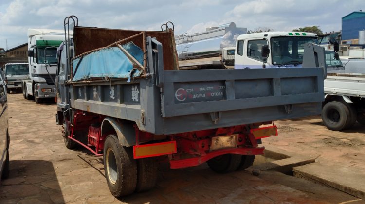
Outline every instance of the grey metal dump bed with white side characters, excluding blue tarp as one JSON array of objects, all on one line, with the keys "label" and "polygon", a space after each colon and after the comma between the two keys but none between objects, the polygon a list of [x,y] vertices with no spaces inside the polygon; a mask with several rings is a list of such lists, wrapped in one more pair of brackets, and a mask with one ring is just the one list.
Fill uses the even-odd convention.
[{"label": "grey metal dump bed with white side characters, excluding blue tarp", "polygon": [[[90,30],[75,28],[76,53],[81,43],[77,36],[86,31],[95,36]],[[108,32],[95,29],[95,32],[101,31]],[[129,83],[127,79],[70,83],[71,106],[134,121],[140,130],[156,135],[298,118],[321,112],[323,68],[177,70],[174,45],[165,45],[173,42],[173,34],[165,33],[163,40],[153,39],[153,34],[146,33],[147,60],[143,76]],[[115,38],[114,41],[123,39]]]}]

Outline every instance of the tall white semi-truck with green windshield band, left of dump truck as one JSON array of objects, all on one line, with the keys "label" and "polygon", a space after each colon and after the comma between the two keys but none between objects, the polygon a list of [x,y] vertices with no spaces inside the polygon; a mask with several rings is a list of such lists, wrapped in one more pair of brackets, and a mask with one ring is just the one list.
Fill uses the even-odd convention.
[{"label": "tall white semi-truck with green windshield band, left of dump truck", "polygon": [[64,41],[63,30],[28,29],[29,80],[22,81],[24,98],[40,103],[55,98],[56,54]]}]

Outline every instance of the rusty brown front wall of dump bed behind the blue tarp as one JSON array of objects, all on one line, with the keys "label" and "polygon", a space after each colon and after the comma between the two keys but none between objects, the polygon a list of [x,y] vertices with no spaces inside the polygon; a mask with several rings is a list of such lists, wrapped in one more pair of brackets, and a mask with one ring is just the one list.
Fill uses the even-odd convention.
[{"label": "rusty brown front wall of dump bed behind the blue tarp", "polygon": [[[73,30],[75,56],[93,49],[108,46],[118,40],[125,39],[141,32],[142,31],[76,26]],[[177,54],[173,33],[146,31],[146,36],[155,37],[163,44],[164,70],[177,70],[178,62],[176,59]],[[138,47],[143,48],[143,38],[134,40],[133,43]]]}]

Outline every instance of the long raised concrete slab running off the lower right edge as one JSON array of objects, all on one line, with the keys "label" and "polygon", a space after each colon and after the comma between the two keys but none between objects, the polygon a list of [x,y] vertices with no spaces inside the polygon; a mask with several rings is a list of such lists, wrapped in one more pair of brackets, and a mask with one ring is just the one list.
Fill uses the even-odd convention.
[{"label": "long raised concrete slab running off the lower right edge", "polygon": [[294,167],[294,176],[320,182],[365,199],[365,172],[355,168],[313,163]]}]

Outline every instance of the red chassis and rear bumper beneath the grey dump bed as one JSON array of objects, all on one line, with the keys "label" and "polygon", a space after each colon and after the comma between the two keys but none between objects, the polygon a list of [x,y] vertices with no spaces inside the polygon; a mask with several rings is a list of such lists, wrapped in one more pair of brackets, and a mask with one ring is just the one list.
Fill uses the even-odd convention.
[{"label": "red chassis and rear bumper beneath the grey dump bed", "polygon": [[[75,112],[71,135],[68,138],[87,148],[96,156],[102,156],[104,140],[106,136],[112,134],[101,134],[100,124],[104,118],[105,116],[90,112]],[[70,122],[68,123],[70,126]],[[263,124],[272,125],[255,128]],[[136,145],[133,146],[133,158],[168,155],[171,169],[198,166],[223,154],[263,154],[265,148],[258,147],[257,140],[277,136],[277,127],[274,122],[157,136],[164,138],[160,140],[154,140],[153,134],[140,131],[137,125],[134,125],[134,129]],[[74,135],[74,131],[80,130],[88,130],[87,144]]]}]

